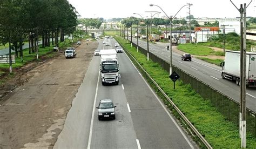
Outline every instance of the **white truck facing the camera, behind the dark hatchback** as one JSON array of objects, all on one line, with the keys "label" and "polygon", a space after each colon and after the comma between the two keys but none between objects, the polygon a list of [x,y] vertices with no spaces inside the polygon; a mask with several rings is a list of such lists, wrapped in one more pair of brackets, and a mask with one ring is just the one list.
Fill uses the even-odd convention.
[{"label": "white truck facing the camera, behind the dark hatchback", "polygon": [[99,71],[101,73],[102,85],[119,83],[119,64],[115,49],[100,50]]}]

